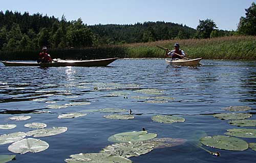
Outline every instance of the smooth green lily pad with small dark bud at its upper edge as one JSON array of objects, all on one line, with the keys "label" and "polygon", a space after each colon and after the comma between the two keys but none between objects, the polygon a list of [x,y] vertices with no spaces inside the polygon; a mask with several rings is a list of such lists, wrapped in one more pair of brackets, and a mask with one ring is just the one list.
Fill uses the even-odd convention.
[{"label": "smooth green lily pad with small dark bud at its upper edge", "polygon": [[156,138],[156,133],[147,133],[147,131],[132,131],[117,133],[109,137],[108,141],[113,143],[139,142]]}]

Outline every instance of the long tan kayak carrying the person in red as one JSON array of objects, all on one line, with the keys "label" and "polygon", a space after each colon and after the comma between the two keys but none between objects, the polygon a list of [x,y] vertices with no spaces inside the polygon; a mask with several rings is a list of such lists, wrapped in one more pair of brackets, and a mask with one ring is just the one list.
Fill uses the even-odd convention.
[{"label": "long tan kayak carrying the person in red", "polygon": [[40,67],[61,67],[61,66],[107,66],[118,58],[102,59],[102,60],[85,60],[85,61],[66,61],[54,59],[51,63],[36,63],[36,62],[8,62],[1,61],[5,66],[40,66]]}]

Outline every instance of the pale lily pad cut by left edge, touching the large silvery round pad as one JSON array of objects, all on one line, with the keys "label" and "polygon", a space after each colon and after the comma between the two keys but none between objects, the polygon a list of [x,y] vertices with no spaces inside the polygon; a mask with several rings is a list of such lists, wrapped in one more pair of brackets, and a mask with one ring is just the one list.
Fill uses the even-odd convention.
[{"label": "pale lily pad cut by left edge, touching the large silvery round pad", "polygon": [[9,144],[16,141],[19,141],[26,137],[25,132],[14,132],[9,134],[2,134],[0,135],[0,145],[2,144]]}]

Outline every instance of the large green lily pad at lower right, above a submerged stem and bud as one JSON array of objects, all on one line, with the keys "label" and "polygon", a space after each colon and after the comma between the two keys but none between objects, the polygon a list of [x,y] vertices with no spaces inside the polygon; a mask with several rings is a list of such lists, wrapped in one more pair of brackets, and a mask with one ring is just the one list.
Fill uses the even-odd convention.
[{"label": "large green lily pad at lower right, above a submerged stem and bud", "polygon": [[238,138],[223,135],[215,135],[213,137],[203,137],[200,142],[212,148],[219,148],[231,151],[243,151],[248,148],[248,144]]}]

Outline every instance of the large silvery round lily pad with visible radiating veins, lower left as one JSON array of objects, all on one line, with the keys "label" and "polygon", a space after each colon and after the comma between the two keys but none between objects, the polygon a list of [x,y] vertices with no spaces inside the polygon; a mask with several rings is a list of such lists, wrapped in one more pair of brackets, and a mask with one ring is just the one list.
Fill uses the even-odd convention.
[{"label": "large silvery round lily pad with visible radiating veins, lower left", "polygon": [[25,154],[27,152],[37,153],[49,148],[49,144],[39,139],[23,139],[11,144],[8,150],[13,153]]}]

